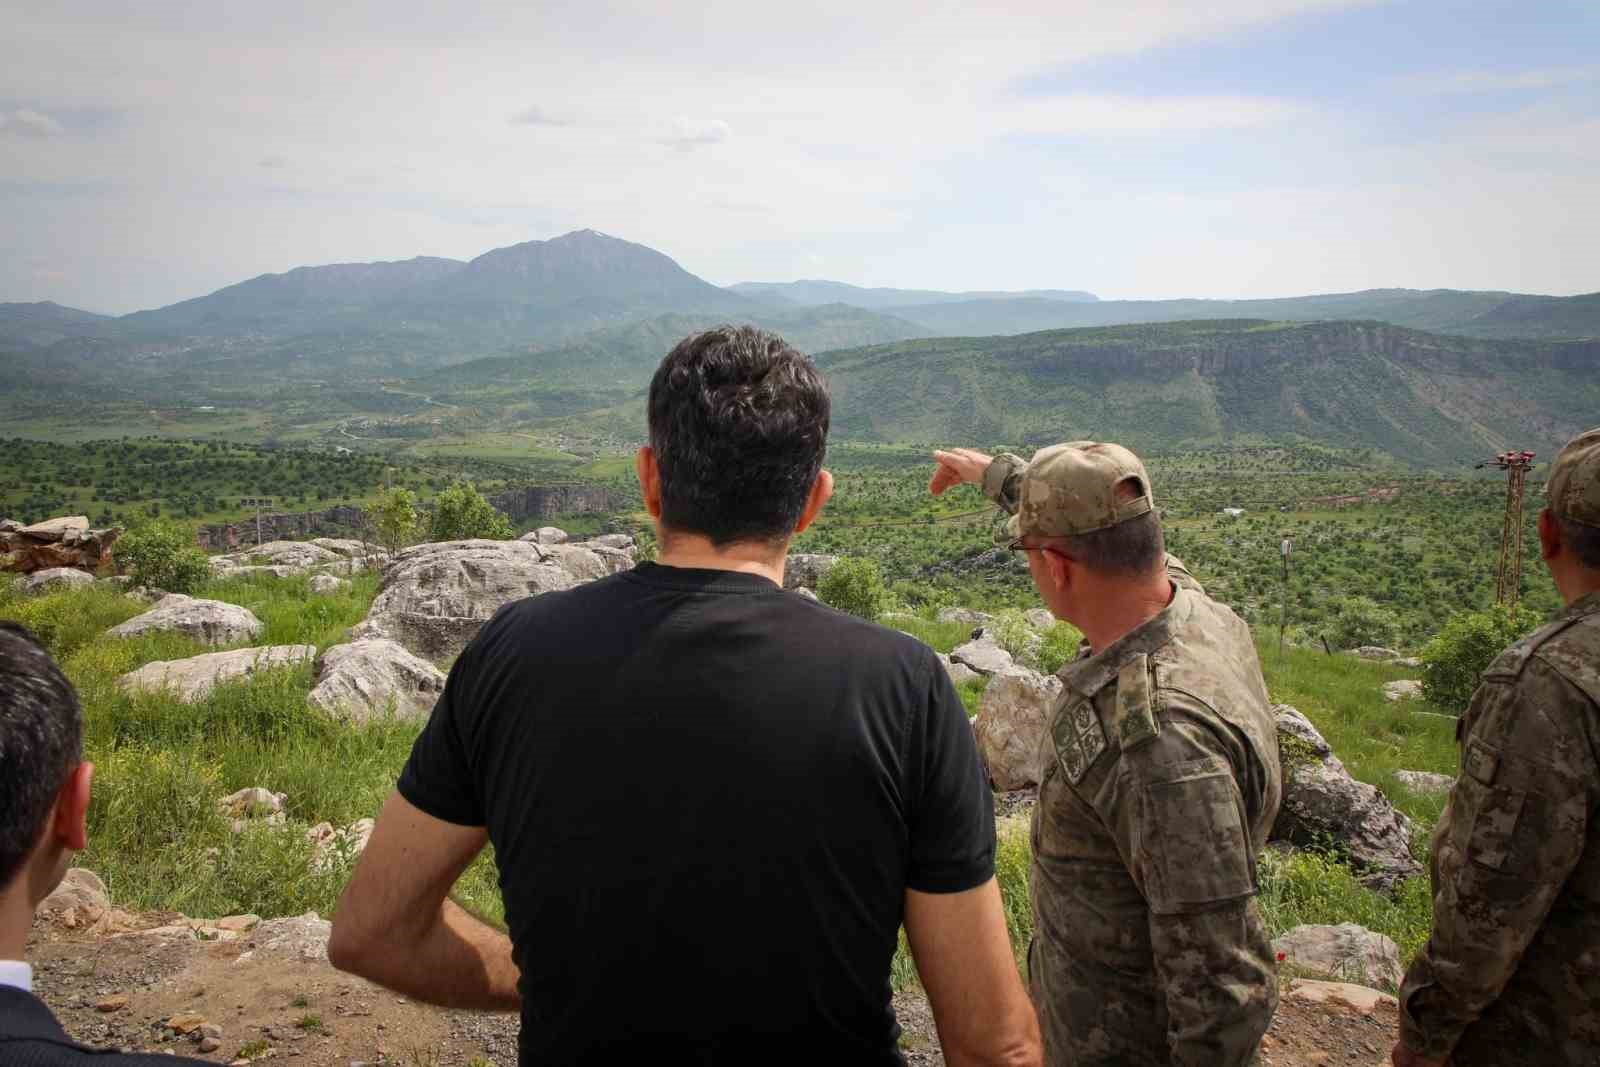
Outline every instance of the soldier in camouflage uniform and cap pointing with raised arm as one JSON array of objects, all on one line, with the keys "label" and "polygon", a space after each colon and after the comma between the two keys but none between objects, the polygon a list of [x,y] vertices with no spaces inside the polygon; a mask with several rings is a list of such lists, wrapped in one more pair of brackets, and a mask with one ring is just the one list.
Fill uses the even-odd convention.
[{"label": "soldier in camouflage uniform and cap pointing with raised arm", "polygon": [[1048,1062],[1254,1062],[1277,1006],[1256,856],[1282,773],[1248,627],[1165,553],[1128,450],[936,458],[930,488],[976,483],[1014,512],[1011,547],[1085,632],[1032,829],[1029,977]]}]

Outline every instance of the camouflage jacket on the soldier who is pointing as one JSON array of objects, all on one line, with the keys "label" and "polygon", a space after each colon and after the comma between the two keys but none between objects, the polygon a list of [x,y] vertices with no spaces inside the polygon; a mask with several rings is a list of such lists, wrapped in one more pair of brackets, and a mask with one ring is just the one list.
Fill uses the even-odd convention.
[{"label": "camouflage jacket on the soldier who is pointing", "polygon": [[1277,1005],[1254,894],[1282,797],[1250,630],[1174,584],[1162,614],[1061,678],[1032,827],[1048,1059],[1250,1064]]}]

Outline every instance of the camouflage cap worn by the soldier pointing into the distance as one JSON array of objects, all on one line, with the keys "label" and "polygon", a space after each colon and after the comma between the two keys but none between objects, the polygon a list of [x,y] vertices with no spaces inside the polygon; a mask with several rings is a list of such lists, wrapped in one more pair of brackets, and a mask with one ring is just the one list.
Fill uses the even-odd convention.
[{"label": "camouflage cap worn by the soldier pointing into the distance", "polygon": [[[1138,480],[1139,494],[1118,499],[1117,490]],[[1155,507],[1150,477],[1139,458],[1122,445],[1067,442],[1042,448],[1022,472],[1016,515],[1006,534],[1016,537],[1077,537]]]}]

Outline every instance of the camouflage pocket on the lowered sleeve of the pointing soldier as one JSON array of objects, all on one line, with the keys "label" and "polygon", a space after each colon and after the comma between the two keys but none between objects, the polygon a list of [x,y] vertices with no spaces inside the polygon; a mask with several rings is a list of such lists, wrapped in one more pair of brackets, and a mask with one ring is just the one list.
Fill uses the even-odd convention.
[{"label": "camouflage pocket on the lowered sleeve of the pointing soldier", "polygon": [[1157,915],[1237,901],[1256,891],[1238,784],[1218,761],[1144,789],[1141,837],[1157,878],[1146,893]]}]

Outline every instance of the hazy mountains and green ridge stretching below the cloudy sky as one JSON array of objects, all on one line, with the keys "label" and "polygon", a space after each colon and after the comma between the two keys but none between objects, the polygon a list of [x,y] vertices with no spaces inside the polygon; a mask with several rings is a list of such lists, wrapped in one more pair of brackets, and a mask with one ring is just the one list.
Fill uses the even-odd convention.
[{"label": "hazy mountains and green ridge stretching below the cloudy sky", "polygon": [[626,437],[661,354],[720,322],[819,354],[835,426],[858,438],[1294,437],[1434,464],[1528,434],[1557,440],[1600,410],[1600,293],[1099,301],[826,280],[722,288],[594,230],[467,262],[299,267],[115,318],[0,304],[0,410],[75,397],[390,418],[414,392],[482,426],[557,421]]}]

